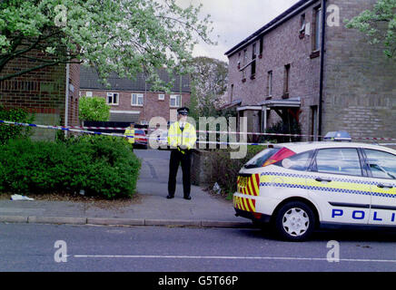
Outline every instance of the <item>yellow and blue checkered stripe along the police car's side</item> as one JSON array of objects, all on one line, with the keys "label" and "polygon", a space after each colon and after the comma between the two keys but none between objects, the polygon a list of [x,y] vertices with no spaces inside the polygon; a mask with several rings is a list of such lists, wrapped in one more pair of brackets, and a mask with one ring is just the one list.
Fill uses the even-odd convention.
[{"label": "yellow and blue checkered stripe along the police car's side", "polygon": [[[283,182],[276,182],[276,177],[282,178]],[[361,179],[332,178],[331,183],[320,184],[314,181],[319,176],[291,174],[283,172],[264,172],[260,176],[260,187],[308,189],[323,192],[348,193],[358,195],[372,195],[382,198],[396,198],[396,191],[375,188],[378,182]]]}]

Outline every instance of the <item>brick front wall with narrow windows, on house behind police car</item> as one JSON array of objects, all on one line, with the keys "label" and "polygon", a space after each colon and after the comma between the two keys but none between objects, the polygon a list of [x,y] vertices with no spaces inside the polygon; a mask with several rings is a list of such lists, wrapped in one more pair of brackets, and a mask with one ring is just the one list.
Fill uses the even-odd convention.
[{"label": "brick front wall with narrow windows, on house behind police car", "polygon": [[[313,29],[313,8],[320,2],[310,5],[301,13],[273,29],[263,37],[262,58],[256,60],[256,73],[251,79],[251,67],[243,73],[239,72],[238,62],[243,67],[243,49],[247,49],[247,60],[252,60],[252,44],[229,57],[229,98],[233,85],[233,100],[242,99],[242,106],[264,102],[268,97],[268,73],[272,71],[272,100],[282,100],[285,65],[290,64],[289,98],[300,97],[302,114],[300,122],[302,132],[309,133],[311,128],[311,106],[318,105],[320,81],[320,57],[312,55],[312,33],[300,37],[301,15],[305,14],[306,23]],[[256,44],[259,52],[259,42]],[[271,111],[269,126],[279,121],[278,115]]]}]

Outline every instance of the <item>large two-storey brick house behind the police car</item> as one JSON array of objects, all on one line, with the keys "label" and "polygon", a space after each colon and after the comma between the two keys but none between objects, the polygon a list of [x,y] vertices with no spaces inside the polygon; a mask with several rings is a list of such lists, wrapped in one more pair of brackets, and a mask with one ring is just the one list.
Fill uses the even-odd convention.
[{"label": "large two-storey brick house behind the police car", "polygon": [[303,134],[396,135],[396,65],[343,23],[376,2],[299,1],[225,53],[229,103],[248,131],[294,118]]}]

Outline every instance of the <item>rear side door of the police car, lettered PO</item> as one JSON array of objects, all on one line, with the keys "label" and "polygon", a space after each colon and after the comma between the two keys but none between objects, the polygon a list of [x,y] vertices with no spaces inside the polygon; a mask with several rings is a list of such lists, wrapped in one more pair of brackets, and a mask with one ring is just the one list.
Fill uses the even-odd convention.
[{"label": "rear side door of the police car, lettered PO", "polygon": [[321,222],[368,223],[371,186],[367,177],[363,177],[357,149],[317,150],[310,173],[306,179],[307,189],[319,206]]}]

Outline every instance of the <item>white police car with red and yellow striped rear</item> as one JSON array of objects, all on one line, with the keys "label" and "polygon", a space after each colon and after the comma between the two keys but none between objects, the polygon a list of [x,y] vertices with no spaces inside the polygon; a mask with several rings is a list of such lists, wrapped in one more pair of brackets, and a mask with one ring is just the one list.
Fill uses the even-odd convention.
[{"label": "white police car with red and yellow striped rear", "polygon": [[341,141],[270,145],[240,170],[233,207],[292,241],[316,227],[396,228],[396,150]]}]

